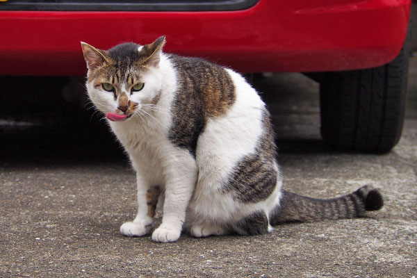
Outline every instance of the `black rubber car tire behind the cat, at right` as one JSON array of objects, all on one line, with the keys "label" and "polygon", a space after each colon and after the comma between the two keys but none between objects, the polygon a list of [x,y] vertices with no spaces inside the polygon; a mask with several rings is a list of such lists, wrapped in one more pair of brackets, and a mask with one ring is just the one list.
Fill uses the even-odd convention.
[{"label": "black rubber car tire behind the cat, at right", "polygon": [[389,152],[404,122],[409,51],[366,70],[329,72],[320,82],[322,139],[356,152]]}]

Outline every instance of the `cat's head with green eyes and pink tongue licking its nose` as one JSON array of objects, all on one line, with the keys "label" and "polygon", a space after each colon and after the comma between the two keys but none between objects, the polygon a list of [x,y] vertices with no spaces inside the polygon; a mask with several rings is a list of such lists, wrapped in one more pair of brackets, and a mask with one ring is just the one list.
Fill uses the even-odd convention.
[{"label": "cat's head with green eyes and pink tongue licking its nose", "polygon": [[156,104],[161,93],[163,44],[164,36],[152,44],[124,43],[106,51],[81,42],[88,67],[88,96],[109,120],[127,120]]}]

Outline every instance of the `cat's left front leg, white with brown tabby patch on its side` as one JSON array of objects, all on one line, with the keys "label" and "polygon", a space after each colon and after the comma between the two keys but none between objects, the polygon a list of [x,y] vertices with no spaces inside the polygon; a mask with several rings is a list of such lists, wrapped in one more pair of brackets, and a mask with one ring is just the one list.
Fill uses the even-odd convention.
[{"label": "cat's left front leg, white with brown tabby patch on its side", "polygon": [[120,233],[124,236],[144,236],[149,234],[155,206],[158,202],[159,189],[150,187],[139,174],[136,177],[138,183],[138,213],[133,222],[125,222],[120,227]]}]

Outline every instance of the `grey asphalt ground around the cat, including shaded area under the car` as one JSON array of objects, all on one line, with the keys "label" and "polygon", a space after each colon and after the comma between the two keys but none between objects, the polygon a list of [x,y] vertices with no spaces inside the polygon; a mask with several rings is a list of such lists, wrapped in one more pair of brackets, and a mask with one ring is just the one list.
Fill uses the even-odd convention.
[{"label": "grey asphalt ground around the cat, including shaded area under the car", "polygon": [[[120,235],[136,213],[135,174],[100,116],[68,103],[74,83],[62,92],[66,79],[0,81],[3,92],[28,99],[19,102],[25,113],[6,115],[8,105],[0,112],[0,277],[417,276],[417,60],[402,139],[383,155],[322,143],[317,83],[301,74],[257,81],[272,111],[284,188],[334,197],[370,183],[384,195],[381,211],[283,224],[263,236],[184,234],[169,244]],[[41,92],[54,99],[49,113]]]}]

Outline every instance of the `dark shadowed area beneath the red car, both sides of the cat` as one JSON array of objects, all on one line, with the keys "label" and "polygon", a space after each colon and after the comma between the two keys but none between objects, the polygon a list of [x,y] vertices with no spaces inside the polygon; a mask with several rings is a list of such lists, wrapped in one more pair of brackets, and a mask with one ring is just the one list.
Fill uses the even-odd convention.
[{"label": "dark shadowed area beneath the red car, both sides of the cat", "polygon": [[[8,108],[0,113],[0,120],[4,119],[0,122],[2,164],[13,161],[126,163],[126,154],[108,131],[105,120],[101,120],[102,115],[80,105],[85,101],[83,78],[28,76],[2,77],[0,81],[4,91],[0,98],[4,100],[2,106]],[[279,131],[276,133],[281,135],[276,139],[280,155],[334,152],[320,140],[317,83],[301,74],[270,74],[257,75],[253,85],[262,92],[275,130]],[[19,102],[17,97],[6,95],[28,100]],[[68,95],[74,97],[72,102],[68,102],[71,99]],[[13,113],[11,106],[16,103],[26,112]]]}]

